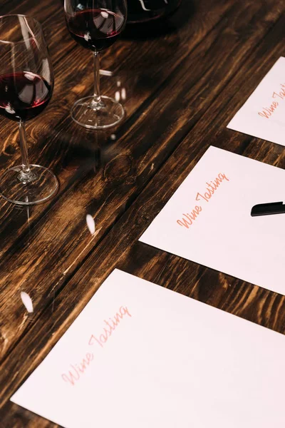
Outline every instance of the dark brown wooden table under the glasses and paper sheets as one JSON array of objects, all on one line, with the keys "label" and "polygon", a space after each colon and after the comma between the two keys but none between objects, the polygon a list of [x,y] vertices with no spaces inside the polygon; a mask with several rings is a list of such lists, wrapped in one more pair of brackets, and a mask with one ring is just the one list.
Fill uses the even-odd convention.
[{"label": "dark brown wooden table under the glasses and paper sheets", "polygon": [[[285,332],[281,295],[138,242],[209,145],[285,167],[283,146],[226,128],[285,55],[284,9],[284,0],[184,0],[165,32],[125,34],[101,68],[113,73],[103,93],[125,98],[127,118],[95,133],[71,120],[73,102],[92,91],[92,56],[69,36],[61,1],[1,0],[1,14],[29,14],[46,33],[56,86],[28,123],[28,148],[61,185],[45,205],[0,200],[1,428],[55,427],[9,397],[115,267]],[[0,136],[4,170],[20,163],[16,124],[1,120]]]}]

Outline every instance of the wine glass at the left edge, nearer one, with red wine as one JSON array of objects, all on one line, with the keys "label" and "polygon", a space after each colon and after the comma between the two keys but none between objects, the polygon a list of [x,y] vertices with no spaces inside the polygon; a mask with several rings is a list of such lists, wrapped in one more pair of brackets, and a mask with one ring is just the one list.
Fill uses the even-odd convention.
[{"label": "wine glass at the left edge, nearer one, with red wine", "polygon": [[58,189],[47,168],[28,163],[26,121],[51,100],[53,70],[41,25],[24,15],[0,16],[0,115],[19,124],[21,166],[0,177],[0,194],[12,203],[34,205]]}]

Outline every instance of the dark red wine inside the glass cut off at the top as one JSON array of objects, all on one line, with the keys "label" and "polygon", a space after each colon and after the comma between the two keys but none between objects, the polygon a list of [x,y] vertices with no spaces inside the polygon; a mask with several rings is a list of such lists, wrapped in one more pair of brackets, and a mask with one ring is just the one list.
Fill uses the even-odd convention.
[{"label": "dark red wine inside the glass cut off at the top", "polygon": [[71,36],[83,48],[102,51],[118,39],[125,17],[107,9],[86,9],[67,19]]}]

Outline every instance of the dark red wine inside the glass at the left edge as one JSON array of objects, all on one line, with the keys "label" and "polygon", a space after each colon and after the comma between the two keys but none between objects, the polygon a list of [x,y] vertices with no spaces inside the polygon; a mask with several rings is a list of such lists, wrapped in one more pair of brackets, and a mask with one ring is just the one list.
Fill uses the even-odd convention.
[{"label": "dark red wine inside the glass at the left edge", "polygon": [[0,114],[12,121],[28,121],[51,99],[51,85],[30,71],[0,75]]}]

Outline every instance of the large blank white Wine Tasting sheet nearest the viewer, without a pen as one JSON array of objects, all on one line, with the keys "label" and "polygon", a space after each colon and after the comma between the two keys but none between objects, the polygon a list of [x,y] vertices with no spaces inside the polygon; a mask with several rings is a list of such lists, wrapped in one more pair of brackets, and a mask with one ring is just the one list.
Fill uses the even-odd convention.
[{"label": "large blank white Wine Tasting sheet nearest the viewer, without a pen", "polygon": [[115,270],[11,400],[65,428],[284,428],[284,361],[283,335]]}]

